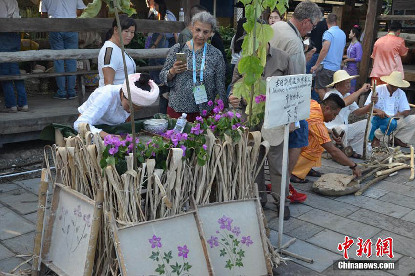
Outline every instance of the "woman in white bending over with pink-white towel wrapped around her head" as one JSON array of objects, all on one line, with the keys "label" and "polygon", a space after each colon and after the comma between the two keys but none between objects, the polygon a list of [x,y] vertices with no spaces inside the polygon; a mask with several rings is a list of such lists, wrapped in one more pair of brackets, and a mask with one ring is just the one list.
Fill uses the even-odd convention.
[{"label": "woman in white bending over with pink-white towel wrapped around her head", "polygon": [[[128,75],[131,101],[134,111],[152,105],[159,97],[159,87],[150,80],[147,73]],[[74,123],[78,130],[79,123],[88,123],[92,133],[99,133],[101,138],[110,135],[94,125],[115,126],[128,120],[130,105],[126,82],[118,85],[98,87],[79,108],[79,117]]]}]

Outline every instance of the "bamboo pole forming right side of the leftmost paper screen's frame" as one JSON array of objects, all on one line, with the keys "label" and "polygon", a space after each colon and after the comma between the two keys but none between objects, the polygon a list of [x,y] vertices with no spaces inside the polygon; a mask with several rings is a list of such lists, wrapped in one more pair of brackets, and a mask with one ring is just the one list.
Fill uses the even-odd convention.
[{"label": "bamboo pole forming right side of the leftmost paper screen's frame", "polygon": [[101,218],[103,214],[104,191],[99,189],[95,198],[94,215],[92,217],[91,236],[89,237],[88,252],[86,255],[84,276],[91,276],[94,268],[95,249],[97,247],[98,233],[100,232]]}]

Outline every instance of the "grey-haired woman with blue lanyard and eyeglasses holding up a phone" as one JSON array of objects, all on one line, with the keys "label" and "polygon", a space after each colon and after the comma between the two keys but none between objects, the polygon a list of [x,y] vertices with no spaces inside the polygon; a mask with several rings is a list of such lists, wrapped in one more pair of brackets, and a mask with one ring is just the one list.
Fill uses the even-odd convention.
[{"label": "grey-haired woman with blue lanyard and eyeglasses holding up a phone", "polygon": [[226,102],[225,62],[220,50],[207,43],[216,26],[216,18],[200,12],[192,18],[192,40],[176,44],[168,52],[160,80],[169,86],[167,114],[178,118],[187,113],[187,120],[211,112],[216,96]]}]

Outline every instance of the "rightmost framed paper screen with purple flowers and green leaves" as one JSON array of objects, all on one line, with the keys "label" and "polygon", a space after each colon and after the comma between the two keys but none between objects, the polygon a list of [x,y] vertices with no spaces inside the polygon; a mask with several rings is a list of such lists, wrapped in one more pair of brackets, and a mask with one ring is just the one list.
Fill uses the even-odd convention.
[{"label": "rightmost framed paper screen with purple flowers and green leaves", "polygon": [[268,275],[255,200],[199,206],[216,276]]}]

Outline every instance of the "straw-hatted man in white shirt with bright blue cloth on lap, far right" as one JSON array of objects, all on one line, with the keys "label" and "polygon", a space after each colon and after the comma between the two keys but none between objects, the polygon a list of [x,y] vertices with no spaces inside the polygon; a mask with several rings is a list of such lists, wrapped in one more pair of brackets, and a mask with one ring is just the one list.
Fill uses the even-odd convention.
[{"label": "straw-hatted man in white shirt with bright blue cloth on lap, far right", "polygon": [[[381,81],[386,84],[376,86],[376,91],[379,100],[374,105],[376,116],[372,119],[372,132],[369,140],[372,140],[372,147],[380,147],[380,139],[389,135],[394,128],[394,144],[401,147],[409,147],[408,142],[415,131],[415,115],[410,115],[411,110],[406,98],[405,92],[402,89],[409,87],[409,82],[403,80],[400,71],[394,71],[389,76],[382,76]],[[365,105],[369,105],[368,100]],[[392,120],[391,120],[392,119]],[[371,137],[372,136],[372,137]]]}]

